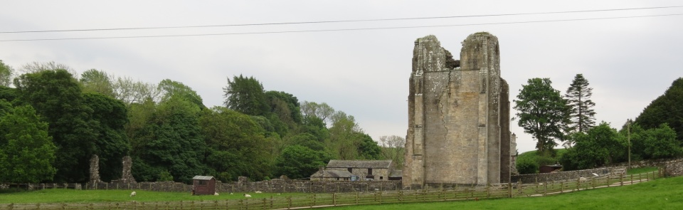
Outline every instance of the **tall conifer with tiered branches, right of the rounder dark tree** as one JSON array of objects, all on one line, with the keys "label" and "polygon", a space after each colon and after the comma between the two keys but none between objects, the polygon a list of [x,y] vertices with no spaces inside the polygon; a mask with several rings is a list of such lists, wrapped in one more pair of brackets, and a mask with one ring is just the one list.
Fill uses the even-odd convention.
[{"label": "tall conifer with tiered branches, right of the rounder dark tree", "polygon": [[576,74],[564,95],[569,106],[570,131],[586,132],[595,126],[595,103],[591,100],[592,92],[593,88],[588,87],[588,80],[583,78],[583,74]]}]

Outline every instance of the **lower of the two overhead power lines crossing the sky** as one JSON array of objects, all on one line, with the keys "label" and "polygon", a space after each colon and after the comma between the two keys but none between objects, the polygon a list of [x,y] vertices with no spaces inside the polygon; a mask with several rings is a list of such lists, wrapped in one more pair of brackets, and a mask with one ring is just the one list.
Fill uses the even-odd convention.
[{"label": "lower of the two overhead power lines crossing the sky", "polygon": [[199,33],[199,34],[178,34],[178,35],[155,35],[155,36],[106,36],[106,37],[82,37],[82,38],[35,38],[35,39],[9,39],[0,40],[0,42],[9,41],[58,41],[58,40],[85,40],[85,39],[111,39],[111,38],[160,38],[160,37],[182,37],[182,36],[226,36],[226,35],[244,35],[244,34],[265,34],[265,33],[304,33],[304,32],[324,32],[324,31],[364,31],[364,30],[384,30],[384,29],[402,29],[402,28],[438,28],[438,27],[454,27],[454,26],[485,26],[485,25],[504,25],[517,23],[549,23],[549,22],[566,22],[566,21],[593,21],[606,19],[632,19],[658,16],[682,16],[683,14],[662,14],[649,16],[621,16],[609,18],[591,18],[591,19],[562,19],[562,20],[548,20],[548,21],[517,21],[517,22],[499,22],[499,23],[467,23],[467,24],[451,24],[451,25],[435,25],[435,26],[398,26],[398,27],[381,27],[381,28],[340,28],[340,29],[321,29],[321,30],[302,30],[302,31],[260,31],[260,32],[238,32],[238,33]]}]

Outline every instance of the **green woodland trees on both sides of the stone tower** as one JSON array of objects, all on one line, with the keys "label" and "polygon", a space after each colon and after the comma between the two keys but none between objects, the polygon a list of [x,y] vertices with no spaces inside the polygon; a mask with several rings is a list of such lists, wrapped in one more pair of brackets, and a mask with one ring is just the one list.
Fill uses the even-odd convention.
[{"label": "green woodland trees on both sides of the stone tower", "polygon": [[[683,156],[683,78],[620,130],[595,125],[591,91],[581,74],[566,95],[548,78],[522,85],[513,120],[534,137],[538,155],[517,159],[521,174],[543,164],[603,167],[628,161],[628,151],[632,160]],[[179,81],[147,83],[96,69],[78,75],[56,63],[14,70],[0,61],[0,183],[87,182],[93,154],[105,182],[120,178],[127,155],[138,182],[190,182],[198,174],[223,182],[300,179],[329,159],[403,164],[403,137],[374,141],[327,103],[263,90],[243,75],[228,77],[223,92],[223,106],[206,107]],[[566,149],[556,152],[558,143]]]}]

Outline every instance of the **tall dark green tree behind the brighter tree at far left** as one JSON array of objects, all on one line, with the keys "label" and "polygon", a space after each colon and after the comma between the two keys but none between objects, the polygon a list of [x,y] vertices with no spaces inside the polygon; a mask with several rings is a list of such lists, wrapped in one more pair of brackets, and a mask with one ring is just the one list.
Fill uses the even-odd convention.
[{"label": "tall dark green tree behind the brighter tree at far left", "polygon": [[48,122],[55,153],[57,182],[85,182],[97,132],[90,126],[92,109],[83,104],[80,85],[67,70],[37,70],[14,78],[19,100]]}]

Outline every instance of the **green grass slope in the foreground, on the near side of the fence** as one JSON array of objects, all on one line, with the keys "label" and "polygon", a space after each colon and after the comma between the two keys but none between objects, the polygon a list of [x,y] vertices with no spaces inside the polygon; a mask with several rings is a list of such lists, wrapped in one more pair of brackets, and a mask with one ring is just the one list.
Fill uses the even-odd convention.
[{"label": "green grass slope in the foreground, on the near side of the fence", "polygon": [[342,206],[327,209],[683,209],[683,177],[543,197]]}]

